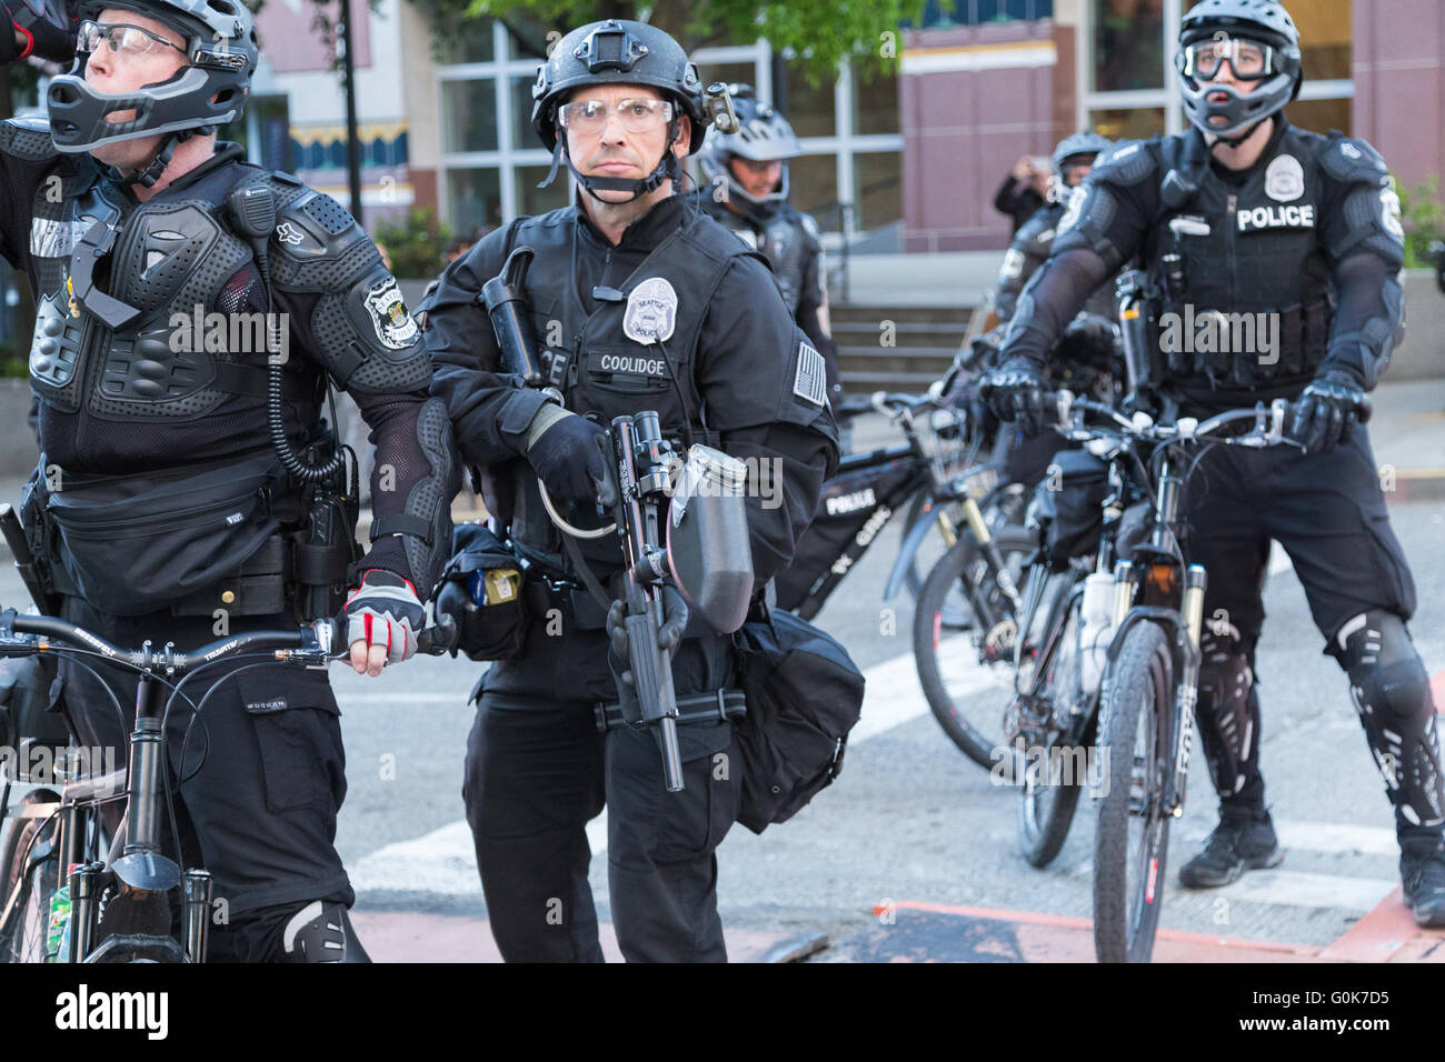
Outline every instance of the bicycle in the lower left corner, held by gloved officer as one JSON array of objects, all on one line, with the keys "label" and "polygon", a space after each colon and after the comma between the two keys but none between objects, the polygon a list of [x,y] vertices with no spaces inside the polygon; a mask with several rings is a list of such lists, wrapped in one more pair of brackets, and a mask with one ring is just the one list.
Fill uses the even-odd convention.
[{"label": "bicycle in the lower left corner, held by gloved officer", "polygon": [[[179,857],[181,842],[168,779],[165,722],[186,678],[220,660],[254,656],[303,668],[325,668],[347,656],[334,650],[337,626],[318,620],[292,630],[262,630],[218,639],[191,653],[168,643],[155,650],[113,646],[82,627],[45,616],[0,613],[0,656],[43,653],[104,657],[139,673],[136,720],[129,763],[103,774],[66,780],[56,789],[26,795],[9,815],[0,844],[4,906],[0,907],[0,959],[7,962],[204,962],[210,942],[212,881],[204,868],[181,870],[163,848],[163,816]],[[418,652],[441,655],[455,640],[451,617],[418,634]],[[249,666],[257,666],[256,663]],[[201,717],[211,694],[236,672],[218,679],[194,702]],[[169,692],[169,696],[168,696]],[[111,695],[117,714],[120,701]],[[184,760],[184,744],[182,744]],[[6,783],[6,798],[9,782]],[[107,838],[100,809],[124,800],[120,829]],[[6,799],[0,799],[0,809]],[[104,852],[104,857],[103,857]],[[61,884],[61,867],[71,893],[69,948],[51,951],[46,926]],[[179,939],[172,936],[171,893],[182,893]],[[104,918],[104,920],[103,920]],[[118,926],[124,932],[110,932]]]}]

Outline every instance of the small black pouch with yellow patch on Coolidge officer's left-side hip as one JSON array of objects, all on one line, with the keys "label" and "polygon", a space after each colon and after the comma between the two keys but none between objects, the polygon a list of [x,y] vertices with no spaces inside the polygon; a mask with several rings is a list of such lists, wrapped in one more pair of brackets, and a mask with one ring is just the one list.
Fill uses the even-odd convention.
[{"label": "small black pouch with yellow patch on Coolidge officer's left-side hip", "polygon": [[[434,600],[436,610],[457,620],[457,646],[473,660],[510,660],[522,653],[529,610],[522,562],[481,523],[452,529],[452,558],[442,571]],[[483,601],[473,595],[480,582]]]}]

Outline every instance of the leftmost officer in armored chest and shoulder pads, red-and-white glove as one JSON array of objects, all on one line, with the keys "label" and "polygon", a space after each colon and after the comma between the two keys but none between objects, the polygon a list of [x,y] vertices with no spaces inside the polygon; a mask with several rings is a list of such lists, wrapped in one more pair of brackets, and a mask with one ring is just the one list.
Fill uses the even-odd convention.
[{"label": "leftmost officer in armored chest and shoulder pads, red-and-white glove", "polygon": [[[250,12],[240,0],[117,0],[82,6],[72,23],[64,9],[3,3],[0,58],[75,59],[49,82],[48,123],[0,124],[0,251],[38,305],[30,384],[46,475],[32,490],[51,493],[56,520],[56,504],[90,491],[162,506],[143,519],[117,501],[101,536],[29,522],[56,551],[62,617],[121,646],[191,649],[295,627],[315,611],[296,582],[337,581],[350,585],[351,666],[380,675],[416,650],[422,597],[449,548],[458,462],[416,327],[366,233],[328,197],[215,139],[240,117],[256,69]],[[260,314],[275,315],[275,331],[257,344],[237,325]],[[377,464],[394,475],[373,490],[373,545],[350,569],[350,530],[341,551],[308,539],[312,496],[282,471],[315,457],[322,374],[357,400]],[[234,511],[230,498],[210,522],[163,507],[228,478],[244,494]],[[191,555],[212,546],[215,556]],[[129,722],[101,683],[133,705],[134,673],[92,668],[61,662],[64,704],[87,746],[123,757]],[[221,673],[186,689],[199,699]],[[208,741],[192,735],[181,764],[191,715],[179,702],[171,712],[171,777],[181,858],[210,870],[225,900],[212,955],[366,961],[334,845],[345,774],[325,672],[228,673],[205,704]]]}]

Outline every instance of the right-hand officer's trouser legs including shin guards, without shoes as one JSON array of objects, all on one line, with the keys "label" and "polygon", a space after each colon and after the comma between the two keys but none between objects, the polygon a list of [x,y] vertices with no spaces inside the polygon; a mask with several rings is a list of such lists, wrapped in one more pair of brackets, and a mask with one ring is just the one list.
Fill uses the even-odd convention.
[{"label": "right-hand officer's trouser legs including shin guards, without shoes", "polygon": [[[1270,539],[1289,553],[1309,601],[1325,652],[1348,666],[1341,631],[1358,627],[1366,614],[1387,613],[1407,620],[1415,611],[1415,584],[1400,543],[1390,529],[1374,454],[1364,428],[1350,442],[1325,454],[1302,455],[1274,446],[1263,451],[1211,448],[1185,488],[1188,535],[1185,558],[1208,572],[1202,637],[1199,730],[1221,813],[1259,818],[1264,813],[1264,779],[1259,767],[1259,698],[1254,689],[1256,646],[1264,623],[1263,587]],[[1418,653],[1415,673],[1423,672]],[[1368,678],[1373,657],[1360,665]],[[1351,672],[1357,709],[1368,682]],[[1419,686],[1419,683],[1415,683]],[[1435,707],[1428,685],[1415,698],[1409,717],[1423,727],[1419,750],[1423,787],[1439,792],[1439,756],[1433,748]],[[1231,704],[1233,702],[1233,704]],[[1379,708],[1379,705],[1377,705]],[[1227,764],[1227,766],[1224,766]],[[1332,769],[1332,767],[1331,767]],[[1435,782],[1431,780],[1435,776]],[[1222,785],[1221,785],[1222,782]],[[1433,844],[1439,825],[1410,821],[1393,787],[1396,825],[1402,842]]]}]

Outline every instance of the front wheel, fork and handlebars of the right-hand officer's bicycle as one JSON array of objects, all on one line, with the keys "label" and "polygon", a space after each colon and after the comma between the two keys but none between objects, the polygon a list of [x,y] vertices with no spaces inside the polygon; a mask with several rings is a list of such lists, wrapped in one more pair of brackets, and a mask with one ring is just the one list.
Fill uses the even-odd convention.
[{"label": "front wheel, fork and handlebars of the right-hand officer's bicycle", "polygon": [[[1189,564],[1181,546],[1179,513],[1188,485],[1182,470],[1207,445],[1299,444],[1285,436],[1289,403],[1283,399],[1269,407],[1172,423],[1156,423],[1143,413],[1126,418],[1068,392],[1049,400],[1058,403],[1059,431],[1066,439],[1127,462],[1149,498],[1139,509],[1143,523],[1136,545],[1118,542],[1110,624],[1097,634],[1095,644],[1108,642],[1097,721],[1085,721],[1084,730],[1078,721],[1065,727],[1069,740],[1078,741],[1085,740],[1088,727],[1097,727],[1098,754],[1107,767],[1107,789],[1097,795],[1094,839],[1095,955],[1101,962],[1147,962],[1159,926],[1169,821],[1183,813],[1208,582],[1204,566]],[[1085,413],[1104,418],[1108,426],[1085,426]],[[1360,420],[1368,418],[1366,403]],[[1247,431],[1225,433],[1246,422]]]}]

